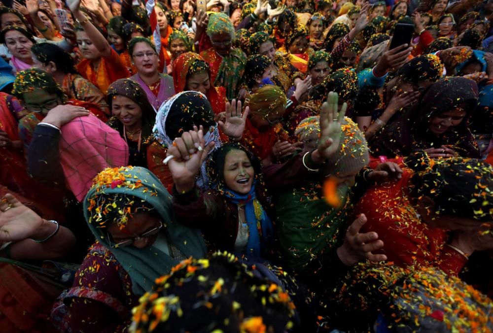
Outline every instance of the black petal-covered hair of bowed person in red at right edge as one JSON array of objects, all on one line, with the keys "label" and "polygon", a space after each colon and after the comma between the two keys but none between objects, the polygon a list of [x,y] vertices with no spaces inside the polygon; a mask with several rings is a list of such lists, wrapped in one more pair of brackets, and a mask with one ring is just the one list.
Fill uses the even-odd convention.
[{"label": "black petal-covered hair of bowed person in red at right edge", "polygon": [[493,216],[493,167],[477,159],[432,160],[424,151],[416,151],[405,163],[415,171],[410,190],[414,198],[429,197],[435,210],[478,221]]}]

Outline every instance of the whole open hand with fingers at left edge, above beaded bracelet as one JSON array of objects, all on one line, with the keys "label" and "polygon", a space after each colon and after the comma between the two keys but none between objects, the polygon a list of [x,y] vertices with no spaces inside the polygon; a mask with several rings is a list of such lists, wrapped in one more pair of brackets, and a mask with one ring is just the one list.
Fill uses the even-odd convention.
[{"label": "whole open hand with fingers at left edge, above beaded bracelet", "polygon": [[43,219],[23,205],[13,195],[6,194],[0,201],[0,242],[32,237],[43,225]]}]

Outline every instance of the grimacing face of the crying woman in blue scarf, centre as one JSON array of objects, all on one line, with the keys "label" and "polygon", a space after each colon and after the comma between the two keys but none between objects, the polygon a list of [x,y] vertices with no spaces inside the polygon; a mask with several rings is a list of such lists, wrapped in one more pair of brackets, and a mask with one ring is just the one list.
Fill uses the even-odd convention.
[{"label": "grimacing face of the crying woman in blue scarf, centre", "polygon": [[255,171],[243,150],[232,150],[224,159],[224,184],[232,191],[248,194]]}]

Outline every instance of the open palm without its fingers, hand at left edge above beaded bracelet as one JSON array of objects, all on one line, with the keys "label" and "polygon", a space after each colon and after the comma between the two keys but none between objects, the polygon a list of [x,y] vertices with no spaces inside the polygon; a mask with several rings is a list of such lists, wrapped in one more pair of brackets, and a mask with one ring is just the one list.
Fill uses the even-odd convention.
[{"label": "open palm without its fingers, hand at left edge above beaded bracelet", "polygon": [[41,217],[25,205],[12,207],[0,215],[0,241],[26,239],[42,223]]}]

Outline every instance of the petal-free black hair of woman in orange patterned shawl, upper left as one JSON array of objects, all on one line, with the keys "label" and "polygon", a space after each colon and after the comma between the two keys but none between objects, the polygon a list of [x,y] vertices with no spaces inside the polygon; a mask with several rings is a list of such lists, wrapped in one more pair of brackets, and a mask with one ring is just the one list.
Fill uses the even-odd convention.
[{"label": "petal-free black hair of woman in orange patterned shawl, upper left", "polygon": [[70,54],[53,43],[36,43],[31,48],[31,52],[33,52],[43,65],[48,65],[50,62],[53,62],[57,66],[57,70],[60,70],[65,74],[78,74]]}]

